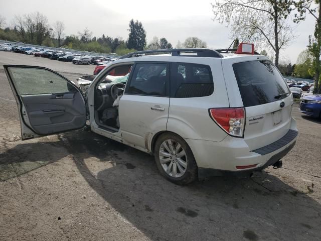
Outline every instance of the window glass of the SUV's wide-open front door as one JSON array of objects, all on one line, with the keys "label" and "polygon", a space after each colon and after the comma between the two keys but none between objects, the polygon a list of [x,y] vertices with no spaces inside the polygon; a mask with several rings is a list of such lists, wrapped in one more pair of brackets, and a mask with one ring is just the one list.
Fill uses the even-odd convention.
[{"label": "window glass of the SUV's wide-open front door", "polygon": [[46,69],[9,68],[9,72],[20,95],[76,91],[66,79]]}]

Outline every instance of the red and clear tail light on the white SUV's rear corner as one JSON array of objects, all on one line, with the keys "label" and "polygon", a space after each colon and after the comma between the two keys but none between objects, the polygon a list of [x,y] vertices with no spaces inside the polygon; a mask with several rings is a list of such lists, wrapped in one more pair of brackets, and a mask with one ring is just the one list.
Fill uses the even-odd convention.
[{"label": "red and clear tail light on the white SUV's rear corner", "polygon": [[216,124],[227,134],[243,137],[245,123],[244,108],[213,108],[209,111]]}]

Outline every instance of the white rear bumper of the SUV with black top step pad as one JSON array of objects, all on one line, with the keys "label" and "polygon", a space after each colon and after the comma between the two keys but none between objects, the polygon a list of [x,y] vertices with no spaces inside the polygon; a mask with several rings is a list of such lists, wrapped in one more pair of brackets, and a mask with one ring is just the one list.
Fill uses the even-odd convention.
[{"label": "white rear bumper of the SUV with black top step pad", "polygon": [[230,136],[221,142],[185,140],[192,149],[200,176],[243,175],[262,170],[284,157],[295,145],[297,134],[296,122],[292,119],[286,135],[256,150],[250,150],[243,138]]}]

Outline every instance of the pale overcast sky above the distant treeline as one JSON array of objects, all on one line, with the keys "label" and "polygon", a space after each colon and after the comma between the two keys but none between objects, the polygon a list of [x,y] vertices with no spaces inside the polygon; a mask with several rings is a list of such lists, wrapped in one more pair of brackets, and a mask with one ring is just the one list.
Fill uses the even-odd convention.
[{"label": "pale overcast sky above the distant treeline", "polygon": [[[77,34],[85,27],[93,36],[102,34],[128,38],[131,19],[142,22],[147,43],[153,36],[165,37],[173,46],[180,40],[195,36],[204,40],[209,48],[227,48],[232,40],[230,29],[213,22],[211,3],[208,0],[163,1],[107,1],[107,0],[10,0],[1,5],[0,15],[12,24],[15,15],[39,11],[52,24],[64,22],[65,34]],[[295,29],[297,38],[280,53],[281,60],[296,62],[297,55],[306,48],[308,35],[313,34],[314,21],[308,16]],[[255,43],[254,43],[255,44]]]}]

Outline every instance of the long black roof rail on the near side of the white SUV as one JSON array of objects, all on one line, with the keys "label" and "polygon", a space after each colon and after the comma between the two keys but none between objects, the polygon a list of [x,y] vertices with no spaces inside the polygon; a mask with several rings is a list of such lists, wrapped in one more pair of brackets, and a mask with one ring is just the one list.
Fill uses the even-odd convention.
[{"label": "long black roof rail on the near side of the white SUV", "polygon": [[[155,49],[155,50],[144,50],[144,51],[137,51],[132,52],[129,54],[125,54],[121,56],[119,59],[126,59],[131,57],[139,57],[143,54],[148,53],[172,53],[172,56],[193,56],[193,57],[212,57],[212,58],[222,58],[221,55],[216,50],[212,49]],[[184,53],[184,55],[181,55]],[[196,53],[197,55],[189,55],[189,53]]]}]

